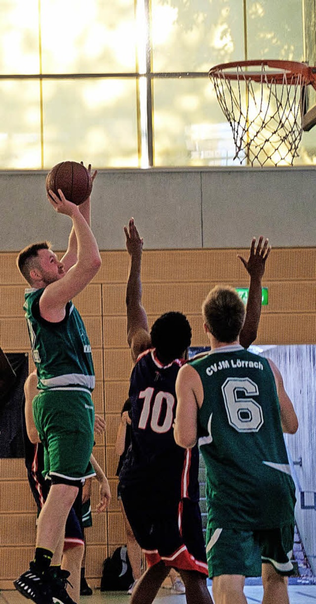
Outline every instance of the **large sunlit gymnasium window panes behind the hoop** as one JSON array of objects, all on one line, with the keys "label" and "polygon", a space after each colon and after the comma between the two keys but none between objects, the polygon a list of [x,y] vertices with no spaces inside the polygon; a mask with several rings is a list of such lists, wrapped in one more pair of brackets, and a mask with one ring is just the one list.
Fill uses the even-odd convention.
[{"label": "large sunlit gymnasium window panes behind the hoop", "polygon": [[[0,0],[0,169],[240,165],[208,69],[306,52],[314,62],[306,5]],[[295,164],[316,163],[314,130]]]}]

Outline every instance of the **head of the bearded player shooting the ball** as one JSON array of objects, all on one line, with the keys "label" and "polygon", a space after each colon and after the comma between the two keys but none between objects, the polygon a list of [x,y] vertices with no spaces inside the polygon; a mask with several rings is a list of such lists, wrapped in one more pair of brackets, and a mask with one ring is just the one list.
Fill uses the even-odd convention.
[{"label": "head of the bearded player shooting the ball", "polygon": [[59,262],[48,241],[31,243],[22,249],[16,263],[31,286],[45,287],[65,274],[62,262]]}]

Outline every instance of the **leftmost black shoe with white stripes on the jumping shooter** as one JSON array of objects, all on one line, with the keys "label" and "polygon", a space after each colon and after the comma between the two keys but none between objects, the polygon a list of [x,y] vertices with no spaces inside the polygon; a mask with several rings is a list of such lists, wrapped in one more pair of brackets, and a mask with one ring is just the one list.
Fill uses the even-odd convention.
[{"label": "leftmost black shoe with white stripes on the jumping shooter", "polygon": [[28,600],[33,600],[36,604],[54,604],[50,576],[47,573],[39,574],[34,562],[30,562],[30,570],[21,574],[13,583],[16,590]]}]

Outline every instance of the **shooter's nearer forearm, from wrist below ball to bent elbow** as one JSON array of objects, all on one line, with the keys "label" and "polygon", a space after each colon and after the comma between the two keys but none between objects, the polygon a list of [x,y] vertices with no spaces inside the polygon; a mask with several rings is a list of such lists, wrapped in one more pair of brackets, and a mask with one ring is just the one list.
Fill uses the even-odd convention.
[{"label": "shooter's nearer forearm, from wrist below ball to bent elbow", "polygon": [[80,263],[83,266],[92,265],[99,268],[101,257],[98,244],[85,217],[78,211],[72,216],[72,220],[77,239],[78,264]]}]

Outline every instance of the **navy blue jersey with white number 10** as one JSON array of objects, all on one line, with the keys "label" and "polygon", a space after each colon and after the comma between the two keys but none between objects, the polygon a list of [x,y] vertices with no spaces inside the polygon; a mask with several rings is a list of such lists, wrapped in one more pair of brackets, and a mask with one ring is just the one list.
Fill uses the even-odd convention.
[{"label": "navy blue jersey with white number 10", "polygon": [[176,498],[199,500],[198,448],[176,445],[175,383],[183,359],[163,365],[155,350],[138,357],[131,374],[131,446],[120,472],[121,484],[145,483]]}]

